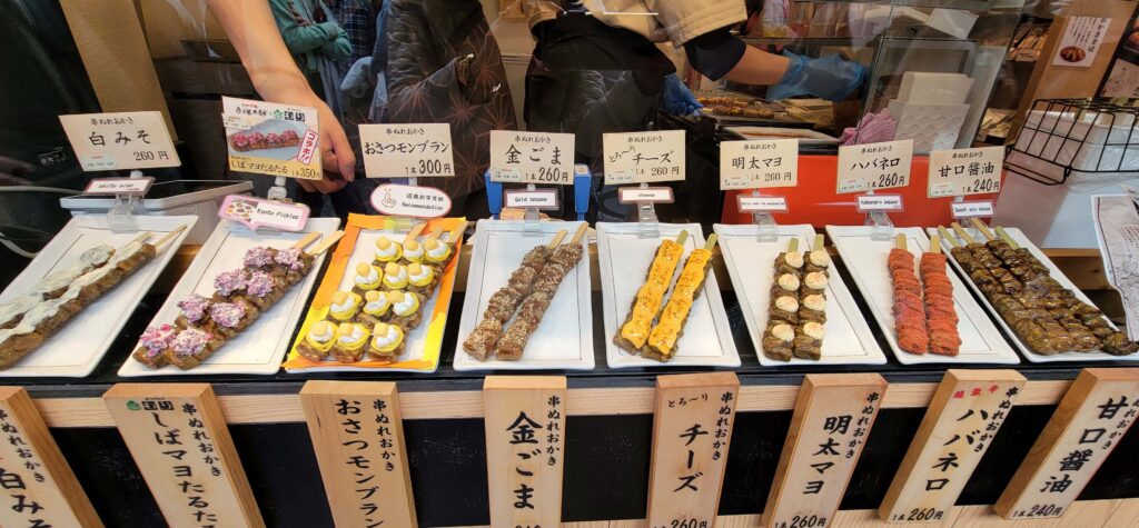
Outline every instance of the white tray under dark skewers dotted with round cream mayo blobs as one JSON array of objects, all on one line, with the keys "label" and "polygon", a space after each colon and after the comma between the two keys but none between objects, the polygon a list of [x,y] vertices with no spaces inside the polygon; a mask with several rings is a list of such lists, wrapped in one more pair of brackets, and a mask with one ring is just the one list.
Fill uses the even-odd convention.
[{"label": "white tray under dark skewers dotted with round cream mayo blobs", "polygon": [[834,269],[827,283],[827,324],[826,337],[822,339],[822,357],[819,361],[798,357],[776,361],[765,356],[761,339],[764,329],[768,328],[768,305],[771,298],[776,257],[787,250],[787,244],[793,238],[798,239],[800,250],[810,248],[814,240],[814,229],[810,225],[780,225],[779,240],[776,242],[759,241],[754,225],[715,224],[714,229],[720,234],[720,251],[723,253],[724,265],[731,275],[731,283],[760,364],[781,366],[886,363],[886,355],[875,340],[870,325],[862,317],[862,312],[854,303],[846,283]]}]

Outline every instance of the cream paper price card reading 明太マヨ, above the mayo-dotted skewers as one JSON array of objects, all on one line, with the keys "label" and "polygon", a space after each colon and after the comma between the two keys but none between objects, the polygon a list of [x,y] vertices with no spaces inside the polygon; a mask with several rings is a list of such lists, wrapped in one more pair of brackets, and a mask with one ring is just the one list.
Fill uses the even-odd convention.
[{"label": "cream paper price card reading \u660e\u592a\u30de\u30e8, above the mayo-dotted skewers", "polygon": [[720,143],[720,190],[798,185],[798,140]]}]

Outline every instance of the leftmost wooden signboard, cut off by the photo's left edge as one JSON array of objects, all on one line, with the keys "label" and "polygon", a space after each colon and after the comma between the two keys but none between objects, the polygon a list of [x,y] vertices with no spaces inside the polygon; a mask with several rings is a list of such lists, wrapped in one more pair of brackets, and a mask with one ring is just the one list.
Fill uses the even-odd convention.
[{"label": "leftmost wooden signboard, cut off by the photo's left edge", "polygon": [[0,526],[103,527],[21,387],[0,387]]}]

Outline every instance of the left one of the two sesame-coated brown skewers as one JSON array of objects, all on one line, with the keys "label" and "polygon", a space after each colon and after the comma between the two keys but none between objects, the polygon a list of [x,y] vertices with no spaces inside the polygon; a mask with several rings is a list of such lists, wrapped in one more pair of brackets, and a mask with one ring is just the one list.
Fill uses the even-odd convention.
[{"label": "left one of the two sesame-coated brown skewers", "polygon": [[538,275],[554,254],[554,248],[562,244],[565,236],[565,230],[558,231],[549,244],[535,246],[526,253],[518,267],[510,273],[506,286],[491,295],[486,310],[483,311],[482,320],[462,341],[462,349],[470,357],[486,361],[494,354],[503,327],[514,316],[514,312],[518,310],[522,300],[533,290]]}]

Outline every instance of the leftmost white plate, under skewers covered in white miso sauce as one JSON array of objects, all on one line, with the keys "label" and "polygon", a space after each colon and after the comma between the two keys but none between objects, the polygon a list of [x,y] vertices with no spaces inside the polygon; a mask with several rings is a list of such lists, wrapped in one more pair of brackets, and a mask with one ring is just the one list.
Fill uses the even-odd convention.
[{"label": "leftmost white plate, under skewers covered in white miso sauce", "polygon": [[[10,369],[0,371],[0,377],[82,378],[95,370],[142,300],[142,296],[150,290],[150,286],[194,229],[198,217],[136,216],[134,220],[140,231],[154,233],[150,237],[151,242],[180,225],[185,224],[186,230],[158,248],[155,262],[146,263],[123,283],[85,306],[36,349]],[[107,217],[103,215],[72,218],[24,269],[24,272],[8,284],[3,294],[0,294],[0,302],[27,291],[48,273],[69,267],[81,253],[95,246],[106,244],[118,247],[137,237],[138,233],[112,233],[107,229]]]}]

